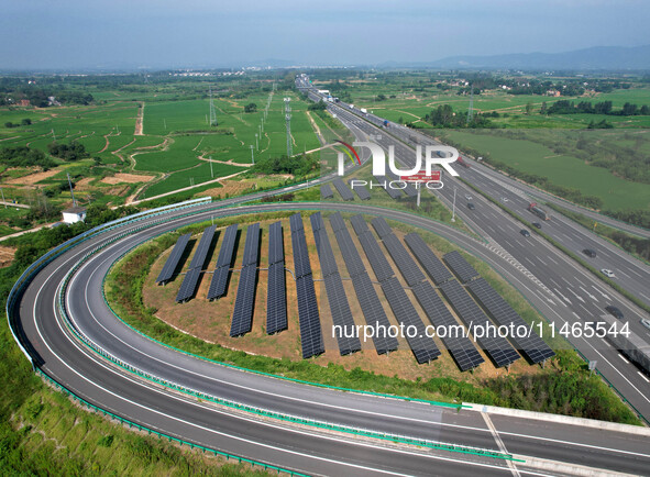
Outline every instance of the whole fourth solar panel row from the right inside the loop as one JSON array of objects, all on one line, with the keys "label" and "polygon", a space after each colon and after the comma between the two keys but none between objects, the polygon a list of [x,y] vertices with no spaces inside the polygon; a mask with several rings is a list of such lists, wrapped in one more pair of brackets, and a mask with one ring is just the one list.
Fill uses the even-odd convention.
[{"label": "whole fourth solar panel row from the right inside the loop", "polygon": [[[412,326],[416,330],[415,336],[409,336],[408,334],[406,336],[406,340],[416,356],[416,360],[421,364],[436,359],[440,356],[440,350],[438,350],[433,340],[426,335],[425,323],[422,323],[422,320],[406,295],[406,291],[401,288],[401,284],[395,277],[393,267],[386,259],[386,256],[382,253],[382,248],[367,228],[363,215],[353,217],[352,226],[359,236],[359,242],[361,242],[361,246],[373,267],[377,280],[379,280],[382,290],[393,310],[393,314],[395,314],[395,318],[400,324],[406,328]],[[386,226],[388,226],[388,224],[386,224]],[[388,228],[388,230],[390,228]]]}]

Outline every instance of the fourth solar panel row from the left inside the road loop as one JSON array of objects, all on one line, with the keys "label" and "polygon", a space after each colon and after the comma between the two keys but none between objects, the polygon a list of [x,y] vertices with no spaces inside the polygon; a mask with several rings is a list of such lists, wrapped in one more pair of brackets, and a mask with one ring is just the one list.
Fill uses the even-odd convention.
[{"label": "fourth solar panel row from the left inside the road loop", "polygon": [[244,244],[244,258],[240,284],[236,289],[231,336],[241,336],[249,333],[253,326],[253,311],[255,308],[255,285],[257,280],[257,257],[260,253],[260,224],[254,223],[246,229],[246,243]]}]

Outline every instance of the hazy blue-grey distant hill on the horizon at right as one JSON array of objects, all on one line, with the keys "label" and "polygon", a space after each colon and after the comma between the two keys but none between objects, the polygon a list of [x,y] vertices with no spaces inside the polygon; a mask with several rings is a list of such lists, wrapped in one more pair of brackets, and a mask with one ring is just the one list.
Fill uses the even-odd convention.
[{"label": "hazy blue-grey distant hill on the horizon at right", "polygon": [[[395,64],[390,66],[395,66]],[[442,69],[650,70],[650,45],[634,47],[594,46],[565,53],[450,56],[411,66]]]}]

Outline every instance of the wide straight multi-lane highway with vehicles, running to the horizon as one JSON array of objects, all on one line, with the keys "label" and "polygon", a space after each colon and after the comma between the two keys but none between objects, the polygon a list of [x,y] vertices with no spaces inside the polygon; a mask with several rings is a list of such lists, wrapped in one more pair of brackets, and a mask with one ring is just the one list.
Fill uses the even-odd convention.
[{"label": "wide straight multi-lane highway with vehicles, running to the horizon", "polygon": [[[309,96],[312,100],[320,97],[311,87]],[[381,118],[370,113],[363,114],[360,110],[351,109],[344,103],[328,102],[328,108],[345,126],[353,125],[362,130],[365,133],[364,140],[367,141],[373,136],[375,142],[386,151],[388,146],[394,146],[396,158],[407,167],[412,167],[415,164],[415,149],[409,147],[407,143],[438,144],[432,138],[406,127],[390,124],[388,129],[385,129]],[[498,179],[497,181],[488,180],[485,175],[477,173],[472,175],[473,169],[465,169],[458,165],[454,167],[466,180],[472,181],[472,179],[476,179],[475,176],[478,176],[482,180],[477,185],[478,188],[485,189],[486,193],[495,195],[497,200],[500,200],[502,197],[508,198],[507,203],[511,201],[518,204],[517,212],[520,215],[528,217],[531,221],[539,221],[537,215],[526,210],[528,202],[514,193],[510,188],[502,186]],[[496,173],[493,174],[496,175]],[[494,176],[489,177],[494,178]],[[436,193],[451,209],[454,188],[456,189],[456,214],[476,233],[486,239],[493,247],[508,256],[522,275],[530,278],[527,287],[533,291],[532,293],[525,292],[521,287],[518,288],[547,319],[557,323],[558,329],[561,329],[565,323],[571,326],[576,322],[591,321],[595,317],[606,313],[605,307],[607,304],[615,304],[624,312],[630,330],[650,342],[650,333],[640,324],[640,319],[648,317],[645,310],[594,277],[579,263],[569,259],[564,253],[536,235],[535,232],[530,237],[522,236],[520,231],[528,229],[527,226],[476,195],[463,182],[449,175],[445,175],[443,180],[445,187],[431,193]],[[476,206],[475,210],[466,208],[465,195],[472,196],[472,202]],[[592,243],[590,240],[598,240],[595,234],[574,225],[566,219],[560,220],[557,215],[559,214],[554,214],[553,219],[549,221],[551,223],[544,222],[542,224],[543,231],[550,235],[573,235],[573,246],[580,246],[579,253],[582,253],[582,248],[586,247],[579,245],[580,243],[588,244]],[[585,237],[582,239],[581,235],[585,235]],[[565,240],[560,235],[559,241],[563,243]],[[634,273],[632,269],[641,274],[640,278],[629,280],[628,285],[632,289],[640,291],[645,284],[650,282],[650,275],[648,275],[648,280],[643,279],[645,274],[648,274],[648,267],[645,264],[631,258],[613,245],[609,247],[615,252],[612,253],[605,247],[603,251],[607,249],[607,252],[601,252],[601,247],[598,251],[604,257],[617,260],[619,266],[616,269],[625,269],[626,266],[629,266],[630,274]],[[625,396],[638,412],[645,417],[650,415],[650,381],[635,364],[620,355],[605,340],[571,336],[569,341],[572,347],[579,350],[587,359],[596,362],[597,369],[602,375]]]}]

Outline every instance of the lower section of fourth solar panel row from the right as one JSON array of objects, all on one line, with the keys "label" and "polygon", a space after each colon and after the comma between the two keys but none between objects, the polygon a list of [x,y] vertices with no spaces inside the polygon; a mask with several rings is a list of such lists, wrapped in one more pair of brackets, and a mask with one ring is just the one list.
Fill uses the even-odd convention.
[{"label": "lower section of fourth solar panel row from the right", "polygon": [[433,339],[426,335],[425,323],[420,320],[399,280],[395,277],[388,278],[382,282],[382,290],[384,290],[395,318],[404,326],[406,341],[416,360],[422,364],[438,358],[441,354],[440,350],[436,346]]}]

